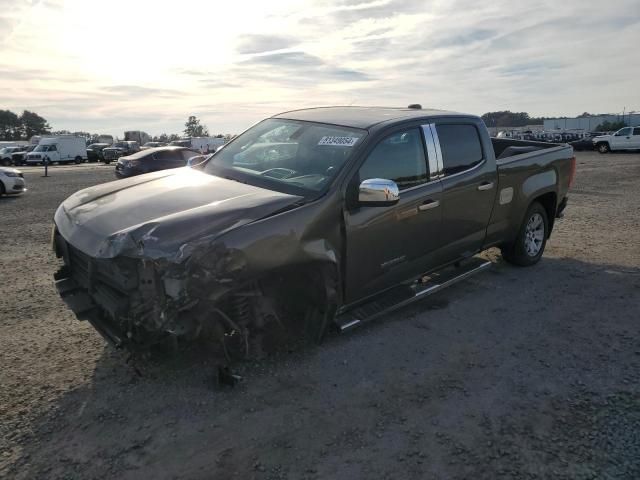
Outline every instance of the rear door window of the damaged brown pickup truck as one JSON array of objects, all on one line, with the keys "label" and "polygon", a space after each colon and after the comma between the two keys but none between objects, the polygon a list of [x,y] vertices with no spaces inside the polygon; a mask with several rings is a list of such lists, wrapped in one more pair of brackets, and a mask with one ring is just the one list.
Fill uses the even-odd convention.
[{"label": "rear door window of the damaged brown pickup truck", "polygon": [[436,125],[436,131],[445,176],[464,172],[482,162],[482,144],[474,125]]}]

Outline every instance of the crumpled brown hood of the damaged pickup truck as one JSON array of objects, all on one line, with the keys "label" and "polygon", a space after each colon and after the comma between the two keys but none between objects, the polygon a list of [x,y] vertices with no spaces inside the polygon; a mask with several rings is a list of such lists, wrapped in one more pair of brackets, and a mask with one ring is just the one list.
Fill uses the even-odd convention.
[{"label": "crumpled brown hood of the damaged pickup truck", "polygon": [[163,170],[80,190],[55,222],[94,258],[118,255],[180,262],[206,241],[302,199],[190,168]]}]

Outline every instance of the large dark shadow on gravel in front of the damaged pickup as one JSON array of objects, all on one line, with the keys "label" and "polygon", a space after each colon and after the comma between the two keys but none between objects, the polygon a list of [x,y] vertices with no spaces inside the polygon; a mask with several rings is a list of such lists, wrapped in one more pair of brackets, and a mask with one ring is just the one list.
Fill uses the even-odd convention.
[{"label": "large dark shadow on gravel in front of the damaged pickup", "polygon": [[640,478],[640,269],[503,264],[387,321],[239,365],[90,382],[14,439],[12,478]]}]

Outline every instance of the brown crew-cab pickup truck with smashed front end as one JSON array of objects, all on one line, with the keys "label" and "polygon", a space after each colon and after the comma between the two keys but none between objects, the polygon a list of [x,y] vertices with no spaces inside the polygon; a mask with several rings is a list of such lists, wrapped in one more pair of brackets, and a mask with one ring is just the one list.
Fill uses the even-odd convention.
[{"label": "brown crew-cab pickup truck with smashed front end", "polygon": [[535,264],[574,173],[570,146],[492,139],[472,115],[286,112],[195,168],[65,200],[56,285],[132,350],[200,337],[249,350],[283,325],[320,340],[484,270],[490,247]]}]

